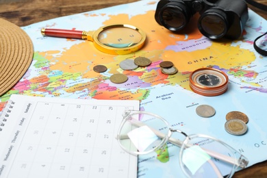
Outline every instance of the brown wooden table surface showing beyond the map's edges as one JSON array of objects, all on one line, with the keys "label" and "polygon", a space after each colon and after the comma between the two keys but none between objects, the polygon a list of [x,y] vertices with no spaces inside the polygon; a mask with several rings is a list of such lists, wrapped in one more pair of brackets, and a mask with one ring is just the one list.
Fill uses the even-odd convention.
[{"label": "brown wooden table surface showing beyond the map's edges", "polygon": [[[0,0],[0,18],[5,18],[23,27],[58,16],[98,10],[134,1],[136,0]],[[267,0],[256,1],[267,5]],[[249,5],[249,8],[267,19],[267,12],[254,8],[251,5]],[[241,170],[234,177],[267,177],[267,161]]]}]

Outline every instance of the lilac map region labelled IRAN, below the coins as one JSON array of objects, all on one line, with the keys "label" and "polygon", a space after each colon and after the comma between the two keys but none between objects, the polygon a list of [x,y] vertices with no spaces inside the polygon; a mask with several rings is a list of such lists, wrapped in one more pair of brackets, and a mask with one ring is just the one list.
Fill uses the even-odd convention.
[{"label": "lilac map region labelled IRAN, below the coins", "polygon": [[146,88],[151,86],[149,83],[145,83],[140,80],[137,76],[128,76],[128,80],[123,84],[114,84],[110,80],[106,81],[110,86],[116,86],[117,88],[128,88],[128,89],[136,89],[136,88]]}]

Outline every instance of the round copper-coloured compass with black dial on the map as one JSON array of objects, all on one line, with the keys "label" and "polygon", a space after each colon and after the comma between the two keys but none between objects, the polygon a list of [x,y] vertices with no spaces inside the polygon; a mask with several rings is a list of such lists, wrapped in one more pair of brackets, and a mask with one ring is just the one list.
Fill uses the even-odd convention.
[{"label": "round copper-coloured compass with black dial on the map", "polygon": [[190,88],[203,96],[217,96],[226,92],[228,76],[215,68],[199,68],[190,74]]}]

